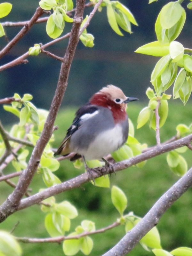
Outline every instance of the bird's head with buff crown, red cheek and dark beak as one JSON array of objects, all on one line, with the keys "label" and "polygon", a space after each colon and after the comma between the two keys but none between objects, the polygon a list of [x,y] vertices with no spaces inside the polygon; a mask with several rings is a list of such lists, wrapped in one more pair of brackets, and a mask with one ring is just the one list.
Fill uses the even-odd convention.
[{"label": "bird's head with buff crown, red cheek and dark beak", "polygon": [[138,100],[137,98],[126,97],[123,91],[114,86],[108,85],[95,93],[90,99],[91,104],[116,109],[126,109],[127,103]]}]

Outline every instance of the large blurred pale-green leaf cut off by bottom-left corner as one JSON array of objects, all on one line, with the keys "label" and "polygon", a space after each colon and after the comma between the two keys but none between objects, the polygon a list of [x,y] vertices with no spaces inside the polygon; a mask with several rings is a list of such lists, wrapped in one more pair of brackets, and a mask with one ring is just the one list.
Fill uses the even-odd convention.
[{"label": "large blurred pale-green leaf cut off by bottom-left corner", "polygon": [[6,231],[0,231],[0,252],[6,256],[20,256],[22,250],[14,236]]}]

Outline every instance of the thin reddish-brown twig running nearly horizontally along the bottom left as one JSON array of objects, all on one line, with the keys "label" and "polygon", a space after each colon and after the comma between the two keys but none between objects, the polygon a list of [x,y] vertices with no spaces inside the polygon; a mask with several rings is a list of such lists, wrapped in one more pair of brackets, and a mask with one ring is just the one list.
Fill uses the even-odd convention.
[{"label": "thin reddish-brown twig running nearly horizontally along the bottom left", "polygon": [[119,225],[120,225],[119,222],[114,222],[113,224],[109,225],[106,228],[101,228],[92,232],[84,232],[76,236],[58,236],[58,237],[51,237],[51,238],[28,238],[28,237],[15,237],[15,238],[17,239],[17,241],[23,242],[23,243],[60,243],[64,240],[79,239],[83,236],[90,236],[98,233],[103,233]]}]

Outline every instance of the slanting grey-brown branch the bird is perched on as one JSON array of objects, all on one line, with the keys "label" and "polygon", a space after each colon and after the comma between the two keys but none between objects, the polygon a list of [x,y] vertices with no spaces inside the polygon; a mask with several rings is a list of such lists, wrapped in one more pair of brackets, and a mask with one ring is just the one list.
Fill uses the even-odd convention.
[{"label": "slanting grey-brown branch the bird is perched on", "polygon": [[[185,145],[188,145],[189,142],[192,141],[192,134],[186,136],[185,138],[182,138],[180,140],[171,142],[169,144],[165,144],[165,145],[161,145],[161,146],[156,146],[155,148],[142,153],[138,156],[134,156],[130,159],[124,160],[122,162],[116,163],[113,165],[114,170],[117,171],[121,171],[124,170],[132,165],[135,164],[139,164],[142,161],[148,160],[154,156],[158,156],[161,155],[165,152],[169,152],[171,150],[174,150],[176,148],[180,148],[183,147]],[[97,168],[97,171],[100,171],[100,173],[98,172],[93,172],[93,178],[96,179],[102,175],[105,174],[109,174],[109,171],[106,171],[104,168],[99,167]],[[18,210],[27,208],[33,204],[37,204],[39,202],[41,202],[42,200],[50,197],[50,196],[55,196],[57,194],[60,194],[61,192],[67,191],[67,190],[71,190],[74,188],[78,188],[80,187],[82,184],[84,184],[85,182],[89,181],[89,177],[87,175],[87,173],[83,173],[71,180],[62,182],[61,184],[57,184],[52,186],[51,188],[46,188],[44,191],[39,192],[33,196],[30,196],[30,198],[26,198],[26,199],[22,199],[20,202],[20,205],[18,207]]]}]

